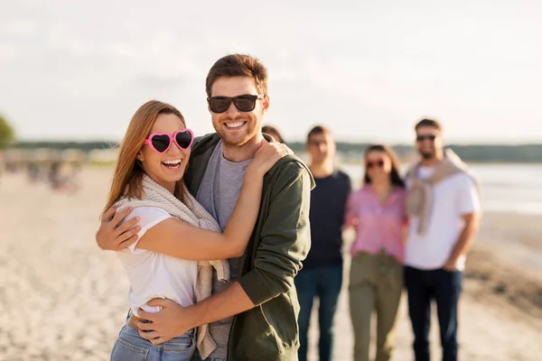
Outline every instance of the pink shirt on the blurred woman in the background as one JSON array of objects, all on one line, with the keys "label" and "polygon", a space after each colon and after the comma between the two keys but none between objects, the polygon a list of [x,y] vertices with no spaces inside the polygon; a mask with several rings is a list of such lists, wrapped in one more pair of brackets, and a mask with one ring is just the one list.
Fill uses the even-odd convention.
[{"label": "pink shirt on the blurred woman in the background", "polygon": [[403,227],[406,226],[406,190],[397,188],[385,202],[365,186],[350,193],[346,204],[345,227],[356,227],[356,240],[350,254],[385,251],[402,264],[405,260]]}]

